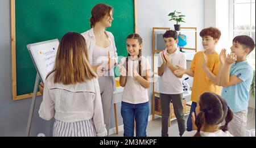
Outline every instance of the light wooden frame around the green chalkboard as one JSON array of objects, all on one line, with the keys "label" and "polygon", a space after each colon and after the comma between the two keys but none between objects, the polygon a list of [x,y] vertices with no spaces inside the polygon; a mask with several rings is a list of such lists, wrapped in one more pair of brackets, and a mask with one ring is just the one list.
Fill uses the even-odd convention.
[{"label": "light wooden frame around the green chalkboard", "polygon": [[[135,32],[138,32],[138,20],[137,20],[137,0],[134,1],[134,28]],[[11,74],[12,74],[12,87],[13,87],[13,100],[20,100],[26,98],[32,98],[33,93],[18,95],[16,91],[16,28],[15,28],[15,0],[11,0]],[[33,80],[34,81],[34,80]],[[36,95],[42,95],[37,92]]]}]

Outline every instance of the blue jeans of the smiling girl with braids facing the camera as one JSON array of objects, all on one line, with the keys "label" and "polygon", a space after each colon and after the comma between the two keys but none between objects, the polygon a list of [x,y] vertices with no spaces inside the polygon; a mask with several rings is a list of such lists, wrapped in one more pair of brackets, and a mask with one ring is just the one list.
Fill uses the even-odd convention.
[{"label": "blue jeans of the smiling girl with braids facing the camera", "polygon": [[148,102],[130,104],[122,102],[121,115],[123,117],[123,136],[134,136],[134,119],[136,121],[136,137],[146,137],[149,106]]}]

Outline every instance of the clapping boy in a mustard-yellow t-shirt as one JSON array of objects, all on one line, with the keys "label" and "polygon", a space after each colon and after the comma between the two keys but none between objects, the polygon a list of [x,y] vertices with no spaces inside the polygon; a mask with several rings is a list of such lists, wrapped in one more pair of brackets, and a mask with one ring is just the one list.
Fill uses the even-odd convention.
[{"label": "clapping boy in a mustard-yellow t-shirt", "polygon": [[217,86],[218,69],[220,67],[219,55],[215,50],[215,46],[220,39],[221,32],[214,27],[204,28],[200,32],[202,37],[203,51],[197,52],[191,63],[189,70],[177,66],[178,69],[174,71],[176,75],[187,74],[193,77],[193,86],[191,94],[191,110],[187,120],[187,131],[192,130],[191,113],[195,112],[196,102],[200,95],[204,92],[210,91],[220,94],[221,87]]}]

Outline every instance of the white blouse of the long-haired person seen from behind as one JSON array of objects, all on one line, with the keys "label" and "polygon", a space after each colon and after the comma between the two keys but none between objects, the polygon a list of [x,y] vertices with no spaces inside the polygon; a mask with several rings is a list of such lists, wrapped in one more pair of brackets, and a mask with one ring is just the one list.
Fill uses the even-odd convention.
[{"label": "white blouse of the long-haired person seen from behind", "polygon": [[43,102],[39,116],[44,120],[54,117],[63,122],[93,119],[97,136],[106,136],[98,79],[84,83],[53,83],[53,73],[44,84]]}]

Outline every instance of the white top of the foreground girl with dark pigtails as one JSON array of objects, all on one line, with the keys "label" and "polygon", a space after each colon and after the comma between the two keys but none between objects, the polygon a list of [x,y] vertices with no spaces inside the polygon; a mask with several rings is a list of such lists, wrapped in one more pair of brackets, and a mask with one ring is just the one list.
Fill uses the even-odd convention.
[{"label": "white top of the foreground girl with dark pigtails", "polygon": [[[193,137],[197,130],[192,130],[191,132],[185,131],[182,137]],[[200,132],[201,137],[233,137],[232,134],[228,132],[223,132],[223,130],[218,130],[217,132]]]}]

